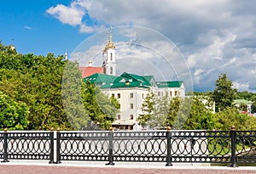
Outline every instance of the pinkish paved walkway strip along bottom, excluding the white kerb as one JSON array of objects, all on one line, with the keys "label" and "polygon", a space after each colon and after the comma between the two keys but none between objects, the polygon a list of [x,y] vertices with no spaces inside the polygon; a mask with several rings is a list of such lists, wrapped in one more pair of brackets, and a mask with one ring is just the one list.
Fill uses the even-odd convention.
[{"label": "pinkish paved walkway strip along bottom, excluding the white kerb", "polygon": [[0,174],[256,174],[256,170],[223,168],[119,168],[114,166],[38,166],[38,165],[0,165]]}]

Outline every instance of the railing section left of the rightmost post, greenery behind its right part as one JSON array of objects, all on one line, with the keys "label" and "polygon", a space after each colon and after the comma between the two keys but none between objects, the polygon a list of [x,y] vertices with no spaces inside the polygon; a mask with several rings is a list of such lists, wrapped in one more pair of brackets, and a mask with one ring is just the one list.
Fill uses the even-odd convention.
[{"label": "railing section left of the rightmost post, greenery behind its right part", "polygon": [[172,132],[172,162],[230,163],[230,132]]}]

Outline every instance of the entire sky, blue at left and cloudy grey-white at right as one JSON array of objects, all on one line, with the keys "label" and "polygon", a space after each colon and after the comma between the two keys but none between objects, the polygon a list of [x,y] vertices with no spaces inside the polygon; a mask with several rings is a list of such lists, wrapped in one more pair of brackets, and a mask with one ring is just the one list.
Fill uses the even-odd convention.
[{"label": "entire sky, blue at left and cloudy grey-white at right", "polygon": [[[127,32],[131,25],[136,30]],[[212,91],[220,73],[227,73],[239,90],[256,93],[256,1],[16,0],[0,6],[0,40],[20,53],[82,53],[80,47],[100,54],[110,26],[122,60],[129,54],[161,70],[160,59],[175,57],[170,74],[190,76],[194,91]],[[96,61],[96,52],[90,57]]]}]

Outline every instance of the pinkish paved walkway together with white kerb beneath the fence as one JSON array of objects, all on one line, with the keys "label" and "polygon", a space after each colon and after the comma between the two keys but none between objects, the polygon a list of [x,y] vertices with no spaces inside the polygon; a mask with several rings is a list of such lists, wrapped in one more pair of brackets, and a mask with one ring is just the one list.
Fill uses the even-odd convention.
[{"label": "pinkish paved walkway together with white kerb beneath the fence", "polygon": [[256,166],[165,166],[152,163],[116,163],[115,166],[105,166],[106,162],[84,163],[63,162],[51,165],[47,162],[10,161],[0,163],[0,174],[256,174]]}]

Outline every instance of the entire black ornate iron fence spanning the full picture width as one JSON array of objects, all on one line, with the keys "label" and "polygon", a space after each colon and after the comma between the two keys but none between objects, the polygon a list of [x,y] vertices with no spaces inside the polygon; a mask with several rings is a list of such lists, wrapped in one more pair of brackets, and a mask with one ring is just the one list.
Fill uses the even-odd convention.
[{"label": "entire black ornate iron fence spanning the full picture width", "polygon": [[0,158],[64,160],[256,163],[256,131],[0,132]]}]

